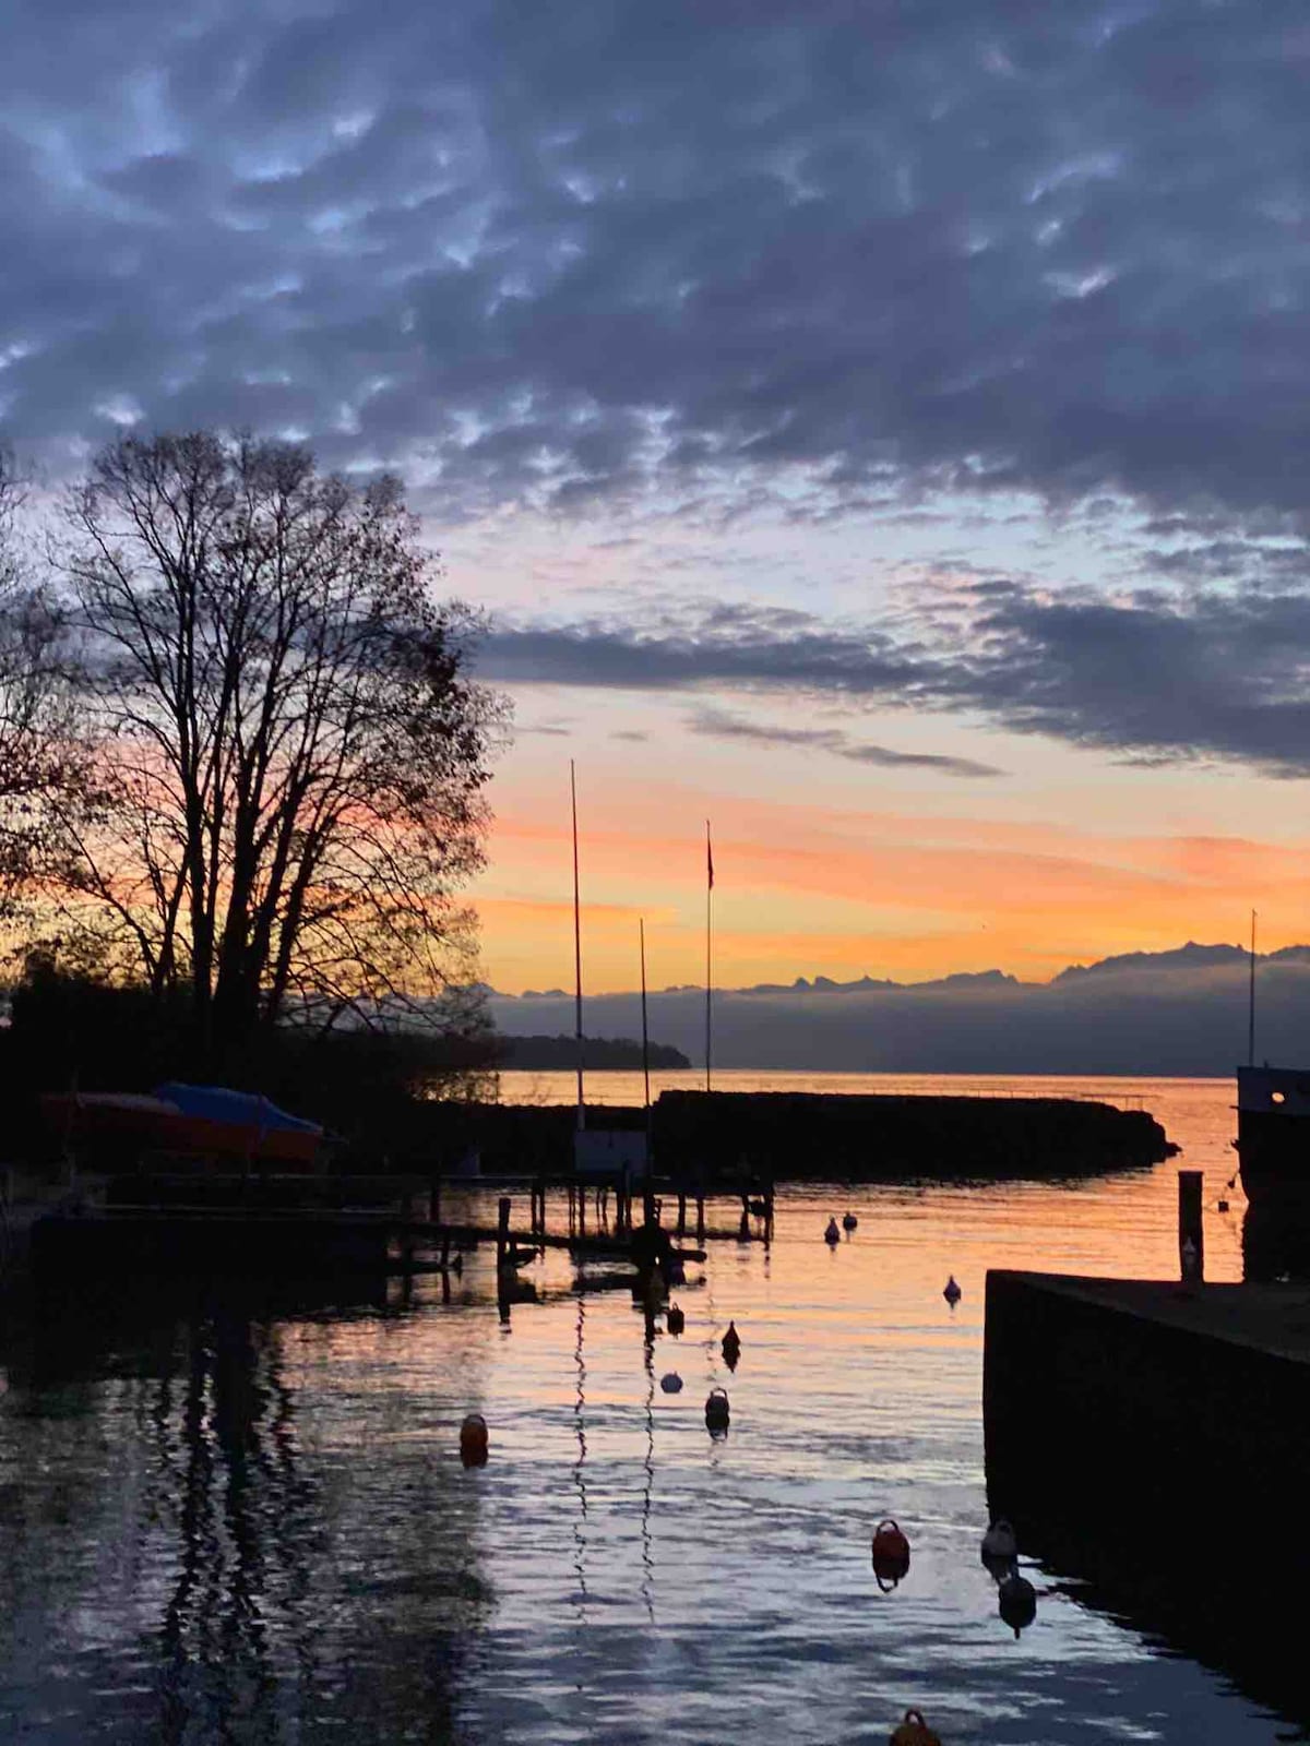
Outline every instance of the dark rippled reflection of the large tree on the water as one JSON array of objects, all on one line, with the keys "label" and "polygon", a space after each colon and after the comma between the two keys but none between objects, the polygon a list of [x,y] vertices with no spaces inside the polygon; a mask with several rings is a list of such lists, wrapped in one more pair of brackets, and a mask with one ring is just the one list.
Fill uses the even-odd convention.
[{"label": "dark rippled reflection of the large tree on the water", "polygon": [[[377,1509],[367,1449],[306,1432],[292,1371],[330,1325],[259,1313],[236,1289],[33,1308],[0,1348],[0,1725],[381,1741],[423,1716],[414,1737],[449,1739],[484,1608],[472,1500],[454,1535],[435,1529],[459,1470],[424,1456],[402,1524]],[[348,1325],[372,1337],[384,1313]]]}]

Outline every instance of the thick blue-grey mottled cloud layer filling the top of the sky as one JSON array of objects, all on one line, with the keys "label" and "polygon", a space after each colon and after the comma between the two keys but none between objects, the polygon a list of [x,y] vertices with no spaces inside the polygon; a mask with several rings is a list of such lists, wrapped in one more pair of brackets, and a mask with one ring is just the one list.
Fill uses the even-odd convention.
[{"label": "thick blue-grey mottled cloud layer filling the top of the sky", "polygon": [[445,513],[1307,506],[1301,0],[10,0],[0,407]]}]

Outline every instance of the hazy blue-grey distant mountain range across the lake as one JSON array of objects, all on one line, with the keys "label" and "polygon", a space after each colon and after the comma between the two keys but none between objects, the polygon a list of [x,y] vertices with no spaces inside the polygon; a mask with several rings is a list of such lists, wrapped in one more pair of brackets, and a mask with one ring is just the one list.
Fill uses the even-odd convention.
[{"label": "hazy blue-grey distant mountain range across the lake", "polygon": [[[1245,1060],[1251,959],[1242,946],[1128,952],[1048,983],[1003,971],[896,983],[714,990],[720,1067],[831,1072],[1231,1074]],[[1310,946],[1256,960],[1256,1055],[1310,1065]],[[571,1030],[571,993],[491,993],[507,1035]],[[587,1028],[634,1035],[639,995],[589,997]],[[650,1028],[704,1060],[704,988],[650,997]]]}]

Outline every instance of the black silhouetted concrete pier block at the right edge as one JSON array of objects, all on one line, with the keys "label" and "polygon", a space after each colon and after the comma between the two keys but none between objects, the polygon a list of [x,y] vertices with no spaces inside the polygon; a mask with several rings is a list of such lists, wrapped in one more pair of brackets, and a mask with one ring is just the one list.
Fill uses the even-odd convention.
[{"label": "black silhouetted concrete pier block at the right edge", "polygon": [[983,1418],[1025,1557],[1310,1722],[1310,1287],[989,1273]]}]

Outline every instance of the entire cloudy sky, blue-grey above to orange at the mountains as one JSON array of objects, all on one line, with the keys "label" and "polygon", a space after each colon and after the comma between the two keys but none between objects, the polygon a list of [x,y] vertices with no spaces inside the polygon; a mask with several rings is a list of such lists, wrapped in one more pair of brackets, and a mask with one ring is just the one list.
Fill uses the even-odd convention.
[{"label": "entire cloudy sky, blue-grey above to orange at the mountains", "polygon": [[1303,0],[7,0],[0,433],[403,475],[501,988],[1310,936]]}]

